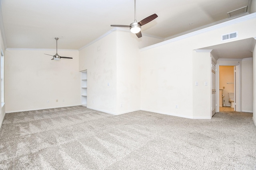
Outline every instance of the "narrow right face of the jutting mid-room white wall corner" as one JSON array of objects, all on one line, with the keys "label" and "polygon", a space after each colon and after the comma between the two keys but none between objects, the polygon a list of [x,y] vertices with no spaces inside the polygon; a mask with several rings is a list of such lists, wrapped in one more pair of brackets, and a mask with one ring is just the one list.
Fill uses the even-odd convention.
[{"label": "narrow right face of the jutting mid-room white wall corner", "polygon": [[140,110],[138,46],[143,45],[147,38],[138,39],[130,32],[117,31],[117,114]]}]

